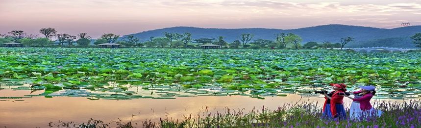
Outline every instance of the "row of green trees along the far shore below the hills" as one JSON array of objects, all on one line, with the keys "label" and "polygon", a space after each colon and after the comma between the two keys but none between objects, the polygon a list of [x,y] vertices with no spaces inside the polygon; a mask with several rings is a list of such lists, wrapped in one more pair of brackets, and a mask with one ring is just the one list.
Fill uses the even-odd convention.
[{"label": "row of green trees along the far shore below the hills", "polygon": [[[0,34],[0,44],[8,42],[22,43],[26,47],[49,47],[49,46],[90,46],[93,40],[87,33],[70,35],[60,33],[55,28],[41,28],[39,33],[44,37],[34,34],[26,34],[22,30],[13,30],[8,34]],[[124,36],[113,33],[103,34],[94,41],[94,45],[103,43],[116,43],[124,47],[147,47],[147,48],[197,48],[199,45],[215,44],[223,48],[231,49],[343,49],[348,43],[354,41],[352,37],[343,37],[338,43],[331,42],[307,42],[301,45],[302,38],[294,33],[279,33],[274,35],[274,40],[254,39],[253,34],[243,33],[231,43],[226,42],[223,36],[218,38],[192,39],[192,34],[164,32],[162,37],[150,37],[148,41],[141,42],[133,35]],[[421,33],[411,37],[417,47],[421,47]]]}]

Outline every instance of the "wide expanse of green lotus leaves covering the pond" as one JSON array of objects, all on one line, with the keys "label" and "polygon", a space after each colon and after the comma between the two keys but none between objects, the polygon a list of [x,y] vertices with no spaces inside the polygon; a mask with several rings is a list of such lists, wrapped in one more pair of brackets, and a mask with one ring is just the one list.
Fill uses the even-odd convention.
[{"label": "wide expanse of green lotus leaves covering the pond", "polygon": [[[418,99],[421,54],[336,50],[0,48],[0,90],[89,100],[241,95],[319,96],[328,83],[377,86],[380,99]],[[403,84],[405,83],[406,84]]]}]

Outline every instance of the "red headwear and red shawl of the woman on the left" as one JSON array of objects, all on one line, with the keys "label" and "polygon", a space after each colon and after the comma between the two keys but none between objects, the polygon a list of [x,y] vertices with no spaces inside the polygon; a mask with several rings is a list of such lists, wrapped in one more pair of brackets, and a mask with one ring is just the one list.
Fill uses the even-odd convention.
[{"label": "red headwear and red shawl of the woman on the left", "polygon": [[[339,83],[339,84],[331,83],[330,85],[343,89],[343,90],[338,90],[335,93],[333,93],[332,99],[330,99],[330,111],[332,112],[332,116],[335,117],[336,114],[337,114],[336,113],[336,103],[344,103],[343,102],[344,96],[339,95],[339,93],[345,93],[345,91],[347,91],[347,85],[345,85],[343,83]],[[332,91],[332,92],[334,92],[334,91]],[[326,101],[323,104],[323,111],[324,111],[324,107],[327,104],[327,98],[325,97],[324,99],[326,99]]]}]

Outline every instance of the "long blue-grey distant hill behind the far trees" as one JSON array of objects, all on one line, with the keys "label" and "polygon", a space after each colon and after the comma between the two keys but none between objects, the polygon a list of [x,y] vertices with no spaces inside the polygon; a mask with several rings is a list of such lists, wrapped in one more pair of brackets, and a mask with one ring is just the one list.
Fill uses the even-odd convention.
[{"label": "long blue-grey distant hill behind the far trees", "polygon": [[[309,41],[316,41],[322,43],[324,41],[338,43],[341,37],[353,37],[355,42],[349,44],[348,48],[354,47],[400,47],[400,48],[414,48],[410,36],[421,32],[421,26],[407,26],[393,29],[365,27],[365,26],[347,26],[347,25],[324,25],[312,26],[298,29],[269,29],[269,28],[238,28],[238,29],[224,29],[224,28],[198,28],[198,27],[169,27],[156,30],[149,30],[140,33],[130,34],[141,41],[149,40],[149,37],[162,37],[164,32],[175,33],[192,33],[193,39],[198,38],[217,38],[223,36],[225,41],[232,42],[242,34],[254,34],[254,39],[269,39],[274,40],[275,34],[278,33],[294,33],[303,39],[303,44]],[[123,37],[124,38],[124,37]]]}]

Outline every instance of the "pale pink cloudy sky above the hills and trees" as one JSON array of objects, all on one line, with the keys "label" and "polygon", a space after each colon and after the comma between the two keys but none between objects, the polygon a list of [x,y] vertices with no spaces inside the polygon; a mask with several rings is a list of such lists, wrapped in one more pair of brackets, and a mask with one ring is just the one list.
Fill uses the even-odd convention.
[{"label": "pale pink cloudy sky above the hills and trees", "polygon": [[396,28],[421,25],[421,0],[0,0],[0,33],[86,32],[126,35],[147,30],[293,29],[328,24]]}]

